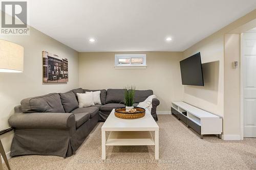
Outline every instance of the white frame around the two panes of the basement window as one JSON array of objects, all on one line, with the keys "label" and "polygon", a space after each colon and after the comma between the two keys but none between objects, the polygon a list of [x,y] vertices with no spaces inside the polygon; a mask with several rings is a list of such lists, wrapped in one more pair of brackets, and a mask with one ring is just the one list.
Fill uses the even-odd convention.
[{"label": "white frame around the two panes of the basement window", "polygon": [[[119,64],[119,59],[130,59],[130,64]],[[132,64],[132,58],[143,58],[142,64]],[[115,54],[115,68],[116,69],[145,69],[146,68],[146,54]]]}]

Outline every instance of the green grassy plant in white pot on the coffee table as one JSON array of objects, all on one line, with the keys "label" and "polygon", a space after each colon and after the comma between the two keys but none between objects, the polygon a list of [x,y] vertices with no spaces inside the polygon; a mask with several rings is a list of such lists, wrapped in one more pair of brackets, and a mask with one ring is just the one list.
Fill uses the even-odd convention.
[{"label": "green grassy plant in white pot on the coffee table", "polygon": [[134,95],[135,95],[135,86],[127,86],[124,90],[124,104],[126,112],[129,112],[133,109],[134,104]]}]

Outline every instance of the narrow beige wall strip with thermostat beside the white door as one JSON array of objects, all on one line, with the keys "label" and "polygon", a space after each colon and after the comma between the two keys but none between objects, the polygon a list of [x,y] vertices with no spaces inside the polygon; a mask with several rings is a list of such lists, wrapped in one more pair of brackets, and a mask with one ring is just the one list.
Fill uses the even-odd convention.
[{"label": "narrow beige wall strip with thermostat beside the white door", "polygon": [[224,46],[225,114],[223,129],[229,135],[240,135],[240,67],[235,69],[232,65],[233,61],[240,61],[240,34],[226,34]]}]

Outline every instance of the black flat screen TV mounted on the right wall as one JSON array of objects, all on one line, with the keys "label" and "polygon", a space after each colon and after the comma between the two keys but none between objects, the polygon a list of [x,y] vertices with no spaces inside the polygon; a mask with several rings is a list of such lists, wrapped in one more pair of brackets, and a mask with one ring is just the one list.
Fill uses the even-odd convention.
[{"label": "black flat screen TV mounted on the right wall", "polygon": [[204,86],[200,52],[180,61],[183,85]]}]

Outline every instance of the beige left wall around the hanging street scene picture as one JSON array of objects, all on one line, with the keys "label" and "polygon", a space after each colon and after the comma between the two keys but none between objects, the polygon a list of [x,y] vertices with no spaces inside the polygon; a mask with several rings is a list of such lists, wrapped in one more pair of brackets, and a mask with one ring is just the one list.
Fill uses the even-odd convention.
[{"label": "beige left wall around the hanging street scene picture", "polygon": [[[14,106],[30,96],[50,92],[64,92],[78,87],[78,53],[51,37],[30,28],[29,36],[0,36],[24,47],[24,72],[0,72],[0,129],[9,127],[8,118],[14,113]],[[63,84],[42,84],[42,51],[57,54],[69,60],[69,82]],[[3,141],[6,152],[10,151],[12,135]]]}]

